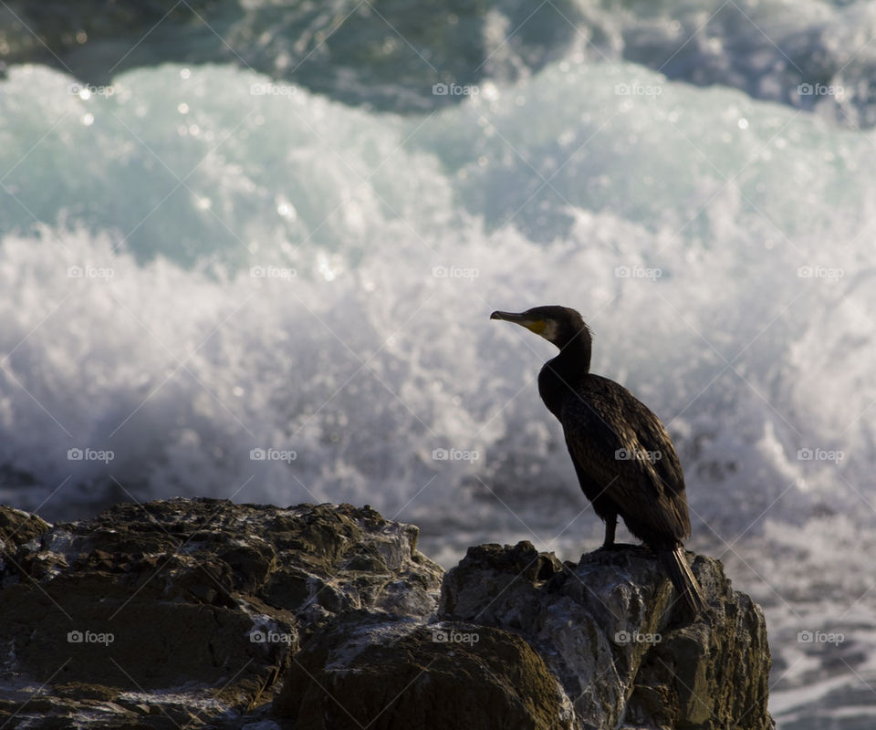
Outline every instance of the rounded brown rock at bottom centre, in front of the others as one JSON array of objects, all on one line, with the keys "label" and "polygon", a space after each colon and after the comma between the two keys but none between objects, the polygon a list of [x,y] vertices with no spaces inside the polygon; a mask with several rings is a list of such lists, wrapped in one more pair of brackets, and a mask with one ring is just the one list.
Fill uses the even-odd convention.
[{"label": "rounded brown rock at bottom centre, in front of the others", "polygon": [[556,678],[516,634],[374,614],[315,636],[274,705],[308,730],[576,727]]}]

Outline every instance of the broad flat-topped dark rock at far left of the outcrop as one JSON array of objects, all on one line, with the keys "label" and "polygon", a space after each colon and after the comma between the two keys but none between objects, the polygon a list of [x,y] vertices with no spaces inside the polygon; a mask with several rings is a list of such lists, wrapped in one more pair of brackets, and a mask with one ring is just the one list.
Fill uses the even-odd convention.
[{"label": "broad flat-topped dark rock at far left of the outcrop", "polygon": [[[442,575],[415,527],[349,505],[175,499],[56,526],[4,508],[0,529],[0,694],[17,700],[0,724],[246,711],[270,701],[301,637],[360,608],[425,620]],[[350,567],[362,555],[368,572]]]}]

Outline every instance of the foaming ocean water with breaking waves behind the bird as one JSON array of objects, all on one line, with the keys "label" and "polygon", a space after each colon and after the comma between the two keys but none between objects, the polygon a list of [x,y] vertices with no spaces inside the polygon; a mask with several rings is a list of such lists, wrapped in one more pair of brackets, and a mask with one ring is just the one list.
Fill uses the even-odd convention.
[{"label": "foaming ocean water with breaking waves behind the bird", "polygon": [[489,320],[565,304],[764,605],[779,727],[872,726],[871,4],[84,5],[0,16],[0,501],[576,559],[552,347]]}]

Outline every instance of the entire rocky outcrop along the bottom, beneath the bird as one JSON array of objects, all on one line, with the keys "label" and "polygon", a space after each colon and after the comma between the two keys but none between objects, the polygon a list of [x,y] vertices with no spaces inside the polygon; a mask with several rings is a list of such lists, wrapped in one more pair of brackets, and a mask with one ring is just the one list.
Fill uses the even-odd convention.
[{"label": "entire rocky outcrop along the bottom, beneath the bird", "polygon": [[640,547],[443,570],[349,505],[174,499],[48,525],[0,507],[0,725],[767,730],[763,615]]}]

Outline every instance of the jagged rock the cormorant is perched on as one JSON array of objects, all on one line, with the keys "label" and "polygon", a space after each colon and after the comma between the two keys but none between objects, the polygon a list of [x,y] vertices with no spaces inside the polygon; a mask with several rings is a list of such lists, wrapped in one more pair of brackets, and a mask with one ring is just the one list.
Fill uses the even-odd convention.
[{"label": "jagged rock the cormorant is perched on", "polygon": [[563,565],[516,547],[470,547],[444,577],[439,616],[515,631],[558,676],[582,727],[773,727],[763,612],[721,564],[698,556],[709,608],[684,620],[672,584],[643,547]]}]

